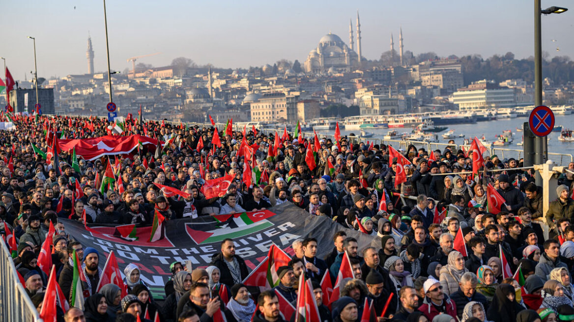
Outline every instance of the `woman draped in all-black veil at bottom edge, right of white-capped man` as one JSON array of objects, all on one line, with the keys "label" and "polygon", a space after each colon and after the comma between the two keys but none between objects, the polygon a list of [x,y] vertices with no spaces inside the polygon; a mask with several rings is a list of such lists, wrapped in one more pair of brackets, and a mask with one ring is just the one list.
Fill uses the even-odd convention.
[{"label": "woman draped in all-black veil at bottom edge, right of white-capped man", "polygon": [[501,284],[497,286],[492,304],[486,312],[486,318],[493,322],[516,321],[518,312],[524,309],[516,302],[514,286]]}]

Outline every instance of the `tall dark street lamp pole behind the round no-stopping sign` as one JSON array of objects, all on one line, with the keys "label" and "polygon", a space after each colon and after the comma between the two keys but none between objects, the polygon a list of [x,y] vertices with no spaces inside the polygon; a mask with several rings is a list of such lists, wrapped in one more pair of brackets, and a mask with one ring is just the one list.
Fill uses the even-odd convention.
[{"label": "tall dark street lamp pole behind the round no-stopping sign", "polygon": [[[534,105],[542,105],[542,14],[563,13],[567,8],[552,6],[542,10],[541,0],[534,0]],[[526,141],[526,140],[525,140]],[[529,150],[529,149],[528,149]],[[534,158],[527,154],[525,144],[525,166],[543,164],[548,159],[548,139],[536,136],[534,138]],[[528,160],[527,160],[528,159]],[[536,183],[542,185],[540,175],[536,176]]]}]

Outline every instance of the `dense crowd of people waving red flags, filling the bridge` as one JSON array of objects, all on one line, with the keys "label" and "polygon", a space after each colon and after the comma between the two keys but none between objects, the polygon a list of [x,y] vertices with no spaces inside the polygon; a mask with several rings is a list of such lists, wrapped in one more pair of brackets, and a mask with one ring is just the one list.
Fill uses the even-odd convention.
[{"label": "dense crowd of people waving red flags, filling the bridge", "polygon": [[[43,116],[38,123],[14,116],[13,121],[14,131],[0,132],[0,228],[13,231],[17,240],[13,260],[26,292],[40,312],[49,276],[38,266],[38,254],[51,225],[56,280],[70,303],[77,262],[87,279],[82,309],[64,313],[60,305],[59,321],[146,321],[156,313],[162,322],[284,321],[281,302],[296,305],[301,276],[311,280],[321,321],[359,321],[371,306],[378,321],[574,320],[574,177],[569,173],[559,179],[559,198],[543,213],[544,191],[532,169],[519,169],[522,160],[484,156],[480,177],[473,179],[472,157],[456,146],[398,149],[411,162],[402,165],[391,158],[390,147],[346,137],[303,139],[285,131],[279,138],[253,127],[218,129],[214,138],[214,127],[128,118],[122,135],[145,135],[164,144],[96,160],[80,156],[77,164],[72,151],[61,151],[55,164],[43,154],[56,137],[108,135],[108,123],[64,116]],[[105,186],[100,180],[112,163],[122,180]],[[395,184],[402,170],[406,181]],[[201,187],[226,175],[234,178],[228,189],[205,198]],[[76,198],[76,182],[81,198]],[[186,197],[166,197],[154,183]],[[498,213],[488,213],[489,184],[505,200]],[[242,284],[249,269],[231,239],[220,244],[207,268],[169,265],[172,276],[157,299],[141,280],[139,264],[123,270],[125,285],[107,284],[96,292],[105,257],[68,235],[60,220],[139,227],[152,225],[156,213],[172,220],[283,203],[327,217],[340,230],[294,241],[292,260],[276,268],[278,285],[262,292]],[[546,221],[550,238],[534,218]],[[359,249],[350,230],[381,244]],[[453,249],[457,234],[466,252]],[[317,256],[317,249],[331,247],[323,258]],[[321,281],[328,274],[334,283],[345,258],[354,278],[340,281],[338,300],[330,303]],[[515,276],[505,274],[506,264]]]}]

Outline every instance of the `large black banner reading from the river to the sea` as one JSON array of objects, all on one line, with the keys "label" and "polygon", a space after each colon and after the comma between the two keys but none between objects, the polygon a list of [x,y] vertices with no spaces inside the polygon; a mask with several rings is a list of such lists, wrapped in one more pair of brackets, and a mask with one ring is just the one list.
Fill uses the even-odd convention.
[{"label": "large black banner reading from the river to the sea", "polygon": [[[309,215],[291,203],[285,203],[265,211],[243,214],[218,215],[197,219],[174,219],[164,222],[165,238],[149,242],[152,227],[137,229],[137,239],[117,237],[115,226],[91,225],[91,231],[77,221],[63,219],[66,232],[82,243],[84,248],[93,247],[100,252],[99,266],[103,268],[106,257],[114,251],[119,268],[129,263],[140,268],[142,280],[150,286],[155,299],[162,299],[164,285],[171,273],[169,265],[174,261],[191,261],[193,268],[205,268],[211,257],[220,252],[224,238],[235,241],[236,254],[254,269],[266,256],[270,245],[276,244],[293,256],[292,242],[297,238],[315,237],[318,241],[317,256],[323,258],[333,249],[333,234],[345,230],[348,237],[359,242],[359,250],[367,246],[380,248],[381,241],[346,229],[327,217]],[[125,235],[125,234],[124,234]]]}]

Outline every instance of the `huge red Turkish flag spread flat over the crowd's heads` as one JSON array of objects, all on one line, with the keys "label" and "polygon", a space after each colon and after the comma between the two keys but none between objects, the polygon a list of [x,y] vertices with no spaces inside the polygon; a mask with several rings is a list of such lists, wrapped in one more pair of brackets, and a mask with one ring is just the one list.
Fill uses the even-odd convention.
[{"label": "huge red Turkish flag spread flat over the crowd's heads", "polygon": [[98,159],[104,155],[129,154],[138,147],[138,142],[152,146],[158,144],[158,140],[142,135],[106,135],[90,139],[58,139],[60,150],[71,151],[72,148],[76,148],[76,155],[81,155],[87,161]]}]

